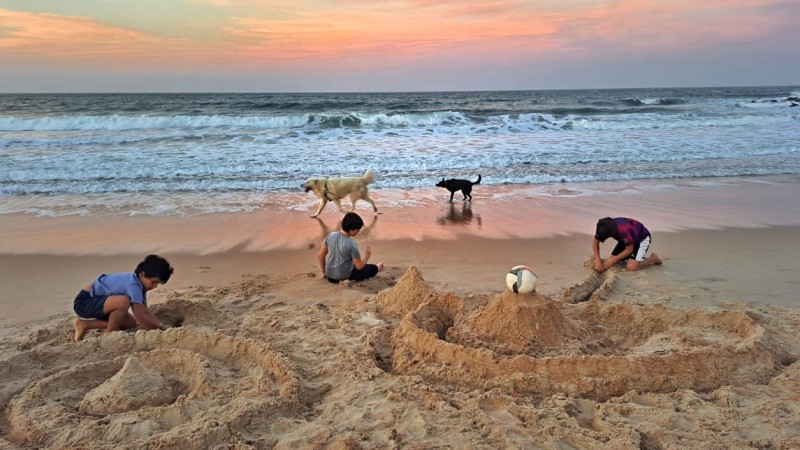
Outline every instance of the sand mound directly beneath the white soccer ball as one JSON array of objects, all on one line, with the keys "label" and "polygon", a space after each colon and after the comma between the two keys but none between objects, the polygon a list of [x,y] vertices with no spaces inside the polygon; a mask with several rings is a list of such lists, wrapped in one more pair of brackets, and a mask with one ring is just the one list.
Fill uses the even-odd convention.
[{"label": "sand mound directly beneath the white soccer ball", "polygon": [[556,302],[536,292],[509,290],[447,331],[446,340],[467,347],[485,347],[501,355],[541,356],[564,351],[582,333],[562,314]]}]

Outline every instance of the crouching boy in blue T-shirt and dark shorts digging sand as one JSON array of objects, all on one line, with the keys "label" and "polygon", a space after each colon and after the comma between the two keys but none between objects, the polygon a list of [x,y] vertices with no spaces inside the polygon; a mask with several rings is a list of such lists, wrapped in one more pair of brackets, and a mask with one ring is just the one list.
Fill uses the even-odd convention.
[{"label": "crouching boy in blue T-shirt and dark shorts digging sand", "polygon": [[[165,284],[172,275],[166,259],[149,255],[133,272],[102,274],[83,288],[73,302],[77,318],[72,320],[75,342],[89,330],[104,328],[105,333],[126,330],[140,323],[150,330],[166,327],[147,307],[147,291]],[[133,315],[128,313],[128,308]]]}]

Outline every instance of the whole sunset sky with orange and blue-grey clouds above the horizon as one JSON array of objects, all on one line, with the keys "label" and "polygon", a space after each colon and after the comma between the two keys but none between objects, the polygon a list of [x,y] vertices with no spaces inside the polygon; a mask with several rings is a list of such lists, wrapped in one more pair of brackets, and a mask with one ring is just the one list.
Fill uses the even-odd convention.
[{"label": "whole sunset sky with orange and blue-grey clouds above the horizon", "polygon": [[800,0],[0,0],[0,93],[800,84]]}]

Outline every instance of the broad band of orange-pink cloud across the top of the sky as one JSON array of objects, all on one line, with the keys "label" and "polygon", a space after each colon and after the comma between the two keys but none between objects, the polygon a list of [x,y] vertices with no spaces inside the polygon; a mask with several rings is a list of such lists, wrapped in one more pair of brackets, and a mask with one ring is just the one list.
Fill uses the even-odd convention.
[{"label": "broad band of orange-pink cloud across the top of the sky", "polygon": [[[347,68],[456,58],[490,63],[736,43],[768,32],[775,19],[756,14],[767,0],[187,1],[218,14],[208,22],[192,16],[198,21],[175,23],[169,36],[88,17],[0,9],[0,56],[187,69]],[[182,33],[184,25],[194,32]],[[202,37],[190,38],[197,34]]]}]

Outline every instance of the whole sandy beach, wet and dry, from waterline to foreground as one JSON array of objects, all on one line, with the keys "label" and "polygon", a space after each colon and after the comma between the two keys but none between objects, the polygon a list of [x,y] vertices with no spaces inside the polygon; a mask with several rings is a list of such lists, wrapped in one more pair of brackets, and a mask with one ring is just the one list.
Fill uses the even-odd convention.
[{"label": "whole sandy beach, wet and dry, from waterline to foreground", "polygon": [[[373,195],[386,269],[349,287],[316,267],[332,207],[0,216],[0,448],[798,448],[797,181]],[[594,221],[627,211],[664,264],[594,273]],[[149,252],[172,328],[73,343],[77,290]],[[536,292],[505,289],[518,264]]]}]

